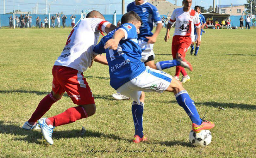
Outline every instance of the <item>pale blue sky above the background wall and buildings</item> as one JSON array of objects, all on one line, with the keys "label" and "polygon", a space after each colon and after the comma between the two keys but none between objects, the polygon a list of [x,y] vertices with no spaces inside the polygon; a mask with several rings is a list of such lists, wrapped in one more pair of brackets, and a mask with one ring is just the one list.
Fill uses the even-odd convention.
[{"label": "pale blue sky above the background wall and buildings", "polygon": [[[0,14],[3,14],[3,1],[0,0]],[[46,0],[5,0],[5,13],[13,12],[13,1],[15,10],[19,9],[21,11],[33,11],[33,7],[36,6],[36,2],[39,3],[39,13],[45,13],[45,3]],[[125,0],[125,9],[126,6],[133,2],[134,0]],[[167,0],[171,3],[175,3],[174,0]],[[215,3],[219,4],[244,4],[246,0],[215,0]],[[98,10],[102,14],[113,14],[116,10],[116,14],[122,14],[122,0],[47,0],[47,10],[48,4],[50,5],[50,13],[60,13],[64,14],[80,14],[82,10]],[[177,0],[177,5],[181,5],[182,0]],[[192,7],[195,5],[200,5],[205,8],[208,8],[210,5],[213,5],[213,0],[193,0]],[[215,4],[216,5],[216,4]],[[48,11],[47,11],[48,13]]]}]

